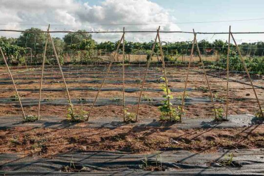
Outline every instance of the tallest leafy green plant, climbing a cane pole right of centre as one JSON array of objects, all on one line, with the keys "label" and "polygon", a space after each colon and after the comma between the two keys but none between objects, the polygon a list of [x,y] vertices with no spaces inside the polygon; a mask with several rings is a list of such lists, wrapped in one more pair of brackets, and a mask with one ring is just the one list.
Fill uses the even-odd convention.
[{"label": "tallest leafy green plant, climbing a cane pole right of centre", "polygon": [[[165,80],[164,78],[161,79]],[[163,98],[165,98],[165,100],[162,101],[163,105],[158,107],[161,112],[160,120],[166,122],[178,122],[180,119],[180,107],[178,107],[177,109],[173,108],[173,104],[170,101],[171,99],[173,99],[173,96],[170,95],[171,90],[164,84],[161,85],[161,88],[165,93],[165,95],[162,96]]]}]

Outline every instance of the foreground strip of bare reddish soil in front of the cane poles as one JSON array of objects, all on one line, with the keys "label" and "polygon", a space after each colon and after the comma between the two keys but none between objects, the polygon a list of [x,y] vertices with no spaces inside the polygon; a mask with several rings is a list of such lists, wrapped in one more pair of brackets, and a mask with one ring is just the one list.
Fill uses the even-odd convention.
[{"label": "foreground strip of bare reddish soil in front of the cane poles", "polygon": [[195,153],[214,153],[220,148],[264,148],[264,125],[188,130],[148,127],[118,127],[114,130],[17,127],[0,130],[0,153],[18,153],[22,156],[51,157],[72,150],[150,153],[179,148]]}]

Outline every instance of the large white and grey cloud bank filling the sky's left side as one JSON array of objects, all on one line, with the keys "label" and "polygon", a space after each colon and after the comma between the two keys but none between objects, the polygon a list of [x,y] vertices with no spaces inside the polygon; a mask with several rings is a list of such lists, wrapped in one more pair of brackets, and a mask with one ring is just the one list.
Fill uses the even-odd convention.
[{"label": "large white and grey cloud bank filling the sky's left side", "polygon": [[[170,22],[175,22],[175,17],[169,14],[169,10],[150,0],[104,0],[97,5],[79,0],[1,0],[0,6],[0,23],[7,24],[0,26],[4,29],[25,29],[35,24],[34,27],[45,30],[46,26],[36,24],[50,23],[63,24],[51,26],[53,30],[120,31],[123,30],[123,25],[94,24],[154,24],[124,25],[130,31],[156,30],[157,23],[163,23],[161,30],[180,30]],[[153,33],[128,33],[126,40],[150,41],[154,40],[154,36]],[[121,34],[94,34],[93,37],[99,41],[116,41]],[[169,34],[162,34],[161,38],[169,40],[171,37]]]}]

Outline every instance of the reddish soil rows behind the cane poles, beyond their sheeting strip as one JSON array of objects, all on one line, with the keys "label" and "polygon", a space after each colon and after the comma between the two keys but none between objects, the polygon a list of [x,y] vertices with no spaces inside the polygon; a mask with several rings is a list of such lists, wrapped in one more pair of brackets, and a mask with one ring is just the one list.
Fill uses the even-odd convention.
[{"label": "reddish soil rows behind the cane poles, beyond their sheeting strip", "polygon": [[[68,69],[68,71],[64,71],[66,81],[91,81],[91,80],[102,80],[102,78],[86,78],[87,75],[90,76],[103,76],[105,70],[101,69],[98,70],[97,68],[94,68],[92,66],[89,66],[89,68],[78,68],[74,67],[75,69]],[[104,68],[104,67],[103,67]],[[105,66],[106,68],[106,66]],[[115,70],[110,71],[110,76],[107,78],[107,80],[113,80],[113,81],[122,81],[122,68],[120,66],[114,66]],[[128,66],[129,68],[129,66]],[[91,70],[90,70],[91,69]],[[193,71],[190,72],[189,75],[189,82],[187,85],[187,88],[207,88],[204,75],[199,74],[195,71],[202,71],[198,67],[192,67]],[[13,67],[12,72],[14,73],[14,78],[19,78],[19,80],[16,80],[16,82],[28,82],[28,81],[34,81],[34,83],[31,84],[18,84],[17,88],[36,88],[39,89],[39,82],[40,79],[36,80],[28,80],[27,78],[40,78],[40,69],[30,70],[22,73],[15,73],[17,71],[25,71],[26,68],[22,67]],[[126,80],[142,80],[142,77],[144,75],[145,67],[132,67],[132,70],[128,69],[129,71],[126,72]],[[149,76],[155,76],[152,78],[147,78],[147,80],[157,80],[162,76],[161,67],[151,67],[151,70],[149,71]],[[183,89],[184,88],[184,81],[186,77],[186,67],[181,68],[173,68],[169,67],[167,68],[168,77],[169,77],[169,86],[170,88],[178,88]],[[207,70],[208,73],[214,74],[216,76],[225,76],[223,73],[214,72],[214,70]],[[5,67],[0,67],[0,78],[8,78],[8,74],[6,73]],[[67,74],[68,73],[68,74]],[[78,74],[77,74],[78,73]],[[85,74],[81,74],[85,73]],[[114,74],[115,73],[115,74]],[[5,74],[5,75],[2,75]],[[51,75],[45,75],[44,76],[44,84],[43,88],[64,88],[64,84],[62,82],[62,79],[60,77],[60,72],[58,70],[55,70],[55,68],[48,67],[48,71],[45,71],[45,74],[51,74]],[[78,78],[73,78],[72,76],[78,76]],[[138,76],[138,77],[135,77]],[[48,77],[54,78],[50,79]],[[170,82],[172,79],[178,79],[182,82]],[[226,96],[226,81],[224,79],[218,78],[218,77],[212,77],[208,76],[208,79],[210,81],[211,89],[213,91],[214,96],[218,99],[225,99]],[[244,83],[250,83],[248,79],[246,78],[245,74],[231,74],[230,79],[235,79],[239,81],[243,81]],[[57,81],[60,81],[58,83]],[[10,82],[10,81],[8,81]],[[46,84],[50,83],[52,84]],[[11,83],[11,82],[10,82]],[[145,88],[160,88],[160,85],[162,83],[146,83]],[[258,86],[264,86],[264,83],[262,80],[259,79],[259,81],[254,81],[255,85]],[[68,83],[67,84],[69,88],[98,88],[100,86],[100,83]],[[141,83],[126,83],[126,88],[140,88]],[[1,93],[0,98],[9,98],[14,95],[13,90],[7,90],[8,88],[13,89],[13,85],[0,85]],[[122,88],[122,84],[116,84],[116,83],[105,83],[103,88]],[[229,114],[244,114],[244,113],[256,113],[259,108],[257,106],[257,102],[255,100],[255,96],[252,90],[251,86],[244,85],[237,82],[229,82]],[[264,89],[256,88],[258,97],[260,99],[260,102],[262,105],[264,105]],[[90,90],[70,90],[70,96],[71,98],[89,98],[94,99],[96,96],[97,91],[90,91]],[[139,91],[137,92],[126,92],[125,96],[127,97],[138,97]],[[22,98],[34,98],[38,99],[39,93],[33,92],[33,91],[20,91],[20,96]],[[164,92],[149,92],[144,91],[143,96],[154,98],[154,97],[162,97]],[[182,92],[172,92],[171,93],[175,98],[180,96]],[[189,97],[210,97],[209,91],[204,92],[202,90],[196,90],[196,91],[187,91],[187,94]],[[48,99],[48,100],[56,100],[58,98],[66,98],[66,91],[43,91],[42,92],[42,98]],[[119,97],[122,98],[122,91],[101,91],[99,94],[99,98],[113,98],[113,97]],[[245,100],[238,100],[238,98],[246,98]],[[75,106],[78,109],[84,109],[89,110],[89,107],[91,104],[83,104],[82,106]],[[222,108],[225,109],[225,102],[216,102],[217,109]],[[129,111],[134,111],[136,106],[128,106]],[[95,110],[93,110],[92,118],[96,118],[98,116],[103,114],[107,116],[115,115],[122,117],[122,107],[121,106],[114,106],[114,105],[108,105],[103,107],[95,107]],[[194,105],[188,105],[185,107],[187,110],[187,113],[185,117],[187,118],[208,118],[213,117],[213,106],[212,103],[200,103],[200,104],[194,104]],[[37,106],[32,107],[25,107],[26,114],[37,114]],[[140,115],[141,117],[148,117],[148,118],[155,118],[158,119],[159,117],[159,110],[155,106],[151,105],[141,105],[140,106]],[[1,115],[22,115],[22,112],[19,107],[15,107],[14,105],[10,104],[1,104],[0,106],[0,113]],[[65,118],[67,113],[67,107],[66,106],[41,106],[41,115],[56,115],[60,118]]]}]

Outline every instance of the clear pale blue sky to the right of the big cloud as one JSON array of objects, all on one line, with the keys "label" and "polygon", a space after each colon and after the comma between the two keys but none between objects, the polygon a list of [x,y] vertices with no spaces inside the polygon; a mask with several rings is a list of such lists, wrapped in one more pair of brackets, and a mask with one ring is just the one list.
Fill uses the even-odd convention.
[{"label": "clear pale blue sky to the right of the big cloud", "polygon": [[[98,5],[102,0],[82,0],[90,5]],[[176,18],[175,22],[208,22],[230,21],[246,19],[264,19],[264,0],[150,0],[159,4],[170,15]],[[161,22],[162,23],[162,22]],[[264,20],[242,22],[215,22],[177,24],[182,31],[224,32],[229,25],[233,32],[264,31]],[[202,36],[205,39],[221,38],[221,35]],[[190,37],[187,37],[190,38]],[[263,34],[236,35],[238,40],[256,42],[264,40]]]}]

